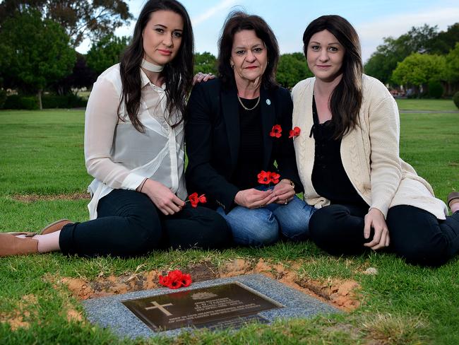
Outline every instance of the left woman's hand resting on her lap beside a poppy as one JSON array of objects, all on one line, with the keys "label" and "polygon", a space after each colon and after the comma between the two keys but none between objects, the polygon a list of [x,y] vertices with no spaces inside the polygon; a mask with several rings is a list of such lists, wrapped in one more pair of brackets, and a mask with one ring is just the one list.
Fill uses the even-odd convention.
[{"label": "left woman's hand resting on her lap beside a poppy", "polygon": [[185,202],[169,188],[154,180],[145,180],[141,192],[147,194],[153,204],[166,216],[176,214],[185,206]]}]

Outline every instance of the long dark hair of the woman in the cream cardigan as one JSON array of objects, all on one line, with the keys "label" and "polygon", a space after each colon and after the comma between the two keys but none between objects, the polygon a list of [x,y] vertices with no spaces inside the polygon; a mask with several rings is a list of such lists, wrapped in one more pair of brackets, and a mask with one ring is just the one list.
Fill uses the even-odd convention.
[{"label": "long dark hair of the woman in the cream cardigan", "polygon": [[333,137],[340,139],[348,131],[359,125],[359,110],[362,105],[362,57],[359,35],[352,25],[340,16],[321,16],[312,21],[303,34],[304,55],[311,36],[328,30],[345,48],[342,62],[342,78],[330,98],[332,121],[335,125]]}]

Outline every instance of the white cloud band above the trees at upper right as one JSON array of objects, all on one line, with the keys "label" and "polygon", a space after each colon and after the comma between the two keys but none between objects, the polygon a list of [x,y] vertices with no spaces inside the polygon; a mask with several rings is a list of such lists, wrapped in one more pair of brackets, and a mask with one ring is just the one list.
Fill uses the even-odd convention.
[{"label": "white cloud band above the trees at upper right", "polygon": [[426,8],[419,13],[400,13],[398,15],[376,18],[371,22],[356,24],[362,42],[362,58],[364,61],[376,52],[376,47],[383,44],[383,37],[394,38],[407,33],[413,26],[427,24],[438,25],[439,30],[446,30],[448,25],[458,21],[459,8]]}]

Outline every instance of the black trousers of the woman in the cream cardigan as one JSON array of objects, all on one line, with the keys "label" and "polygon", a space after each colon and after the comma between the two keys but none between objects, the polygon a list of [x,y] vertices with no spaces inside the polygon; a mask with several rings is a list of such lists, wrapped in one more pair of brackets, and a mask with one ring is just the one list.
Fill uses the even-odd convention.
[{"label": "black trousers of the woman in the cream cardigan", "polygon": [[[355,255],[369,250],[364,243],[364,216],[368,209],[333,204],[318,209],[309,221],[309,234],[318,247],[333,255]],[[388,250],[407,262],[439,266],[459,252],[459,212],[441,221],[415,206],[389,209],[386,224]]]}]

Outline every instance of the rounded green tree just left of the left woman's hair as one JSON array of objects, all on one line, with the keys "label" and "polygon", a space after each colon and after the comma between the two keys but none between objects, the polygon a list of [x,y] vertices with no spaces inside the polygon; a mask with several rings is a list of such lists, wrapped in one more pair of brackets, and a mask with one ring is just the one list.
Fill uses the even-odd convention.
[{"label": "rounded green tree just left of the left woman's hair", "polygon": [[94,42],[86,54],[88,67],[97,75],[119,63],[119,57],[129,44],[129,37],[117,37],[113,34]]}]

